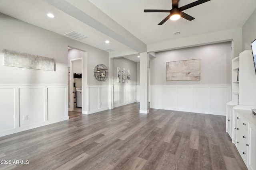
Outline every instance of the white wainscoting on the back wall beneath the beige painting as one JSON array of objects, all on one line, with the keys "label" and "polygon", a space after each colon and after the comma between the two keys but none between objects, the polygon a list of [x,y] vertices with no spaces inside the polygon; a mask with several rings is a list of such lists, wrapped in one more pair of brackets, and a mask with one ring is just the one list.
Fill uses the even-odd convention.
[{"label": "white wainscoting on the back wall beneath the beige painting", "polygon": [[226,115],[229,84],[151,85],[150,108]]}]

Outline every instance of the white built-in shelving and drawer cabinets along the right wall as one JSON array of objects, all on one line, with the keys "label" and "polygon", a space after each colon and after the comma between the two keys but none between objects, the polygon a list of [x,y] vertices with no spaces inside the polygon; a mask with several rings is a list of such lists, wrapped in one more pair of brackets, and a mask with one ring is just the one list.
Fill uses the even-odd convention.
[{"label": "white built-in shelving and drawer cabinets along the right wall", "polygon": [[252,51],[232,60],[231,101],[227,103],[226,132],[249,170],[256,170],[256,75]]}]

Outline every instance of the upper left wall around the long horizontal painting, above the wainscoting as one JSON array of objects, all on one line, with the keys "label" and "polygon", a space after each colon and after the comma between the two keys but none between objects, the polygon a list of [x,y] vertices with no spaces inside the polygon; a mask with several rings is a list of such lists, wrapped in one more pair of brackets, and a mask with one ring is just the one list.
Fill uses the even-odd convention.
[{"label": "upper left wall around the long horizontal painting, above the wainscoting", "polygon": [[[0,14],[0,84],[67,84],[67,46],[62,36]],[[4,49],[53,58],[56,71],[4,66]],[[58,50],[56,50],[58,49]],[[60,50],[65,49],[65,50]],[[7,74],[8,73],[8,74]]]}]

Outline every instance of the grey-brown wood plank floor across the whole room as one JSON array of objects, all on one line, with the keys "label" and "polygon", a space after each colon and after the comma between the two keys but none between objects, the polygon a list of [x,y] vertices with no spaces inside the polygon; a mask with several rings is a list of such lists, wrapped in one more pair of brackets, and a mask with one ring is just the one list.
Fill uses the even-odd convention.
[{"label": "grey-brown wood plank floor across the whole room", "polygon": [[1,137],[0,160],[11,164],[0,169],[246,170],[225,123],[181,111],[140,114],[139,103],[80,114]]}]

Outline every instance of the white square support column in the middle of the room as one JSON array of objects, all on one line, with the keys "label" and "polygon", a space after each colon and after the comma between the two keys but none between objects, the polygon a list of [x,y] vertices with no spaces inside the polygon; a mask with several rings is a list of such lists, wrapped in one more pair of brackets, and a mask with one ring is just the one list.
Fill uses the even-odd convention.
[{"label": "white square support column in the middle of the room", "polygon": [[149,113],[148,107],[148,53],[140,53],[140,113]]}]

